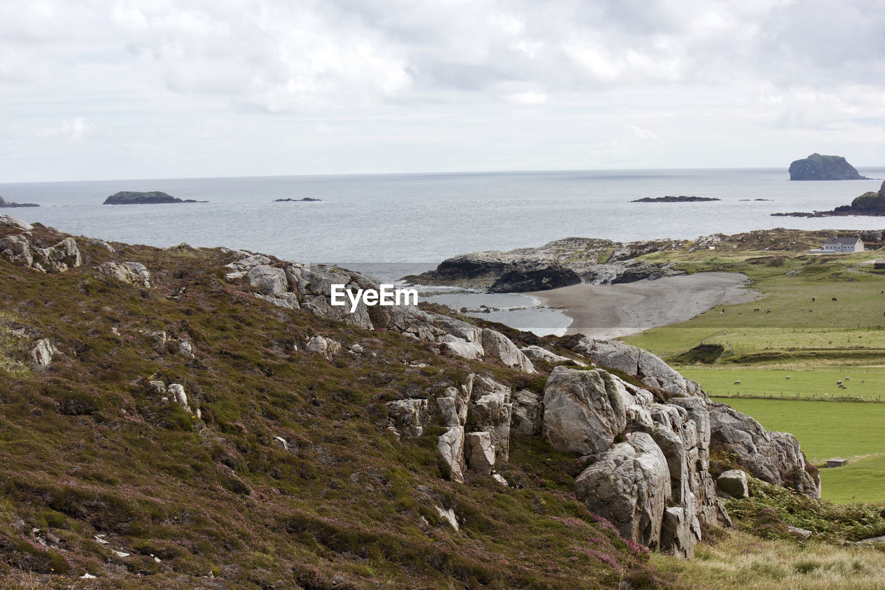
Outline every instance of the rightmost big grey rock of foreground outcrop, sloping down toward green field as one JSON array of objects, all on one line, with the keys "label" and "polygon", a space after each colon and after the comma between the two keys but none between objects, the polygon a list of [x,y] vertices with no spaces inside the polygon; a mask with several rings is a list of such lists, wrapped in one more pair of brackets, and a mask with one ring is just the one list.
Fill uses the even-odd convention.
[{"label": "rightmost big grey rock of foreground outcrop, sloping down toward green field", "polygon": [[710,430],[711,448],[735,455],[751,475],[820,498],[820,483],[805,470],[804,454],[792,434],[766,431],[749,415],[717,402],[710,403]]}]

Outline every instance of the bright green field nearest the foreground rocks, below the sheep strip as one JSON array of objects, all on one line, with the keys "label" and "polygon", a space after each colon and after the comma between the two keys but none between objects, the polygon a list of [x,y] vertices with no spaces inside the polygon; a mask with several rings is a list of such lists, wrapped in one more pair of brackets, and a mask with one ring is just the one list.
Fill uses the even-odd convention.
[{"label": "bright green field nearest the foreground rocks, below the sheep strip", "polygon": [[[820,470],[823,497],[835,502],[885,502],[885,403],[722,399],[767,430],[791,432],[808,460],[850,462]],[[867,456],[874,455],[874,456]]]}]

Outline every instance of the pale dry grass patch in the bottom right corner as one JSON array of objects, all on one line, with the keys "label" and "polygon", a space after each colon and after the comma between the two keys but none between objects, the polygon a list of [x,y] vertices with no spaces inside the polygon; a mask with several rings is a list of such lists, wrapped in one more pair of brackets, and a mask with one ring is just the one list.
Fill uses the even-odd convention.
[{"label": "pale dry grass patch in the bottom right corner", "polygon": [[797,545],[729,531],[715,544],[698,545],[695,557],[681,562],[655,555],[652,563],[675,573],[684,587],[885,588],[885,553],[872,547],[835,547],[816,541]]}]

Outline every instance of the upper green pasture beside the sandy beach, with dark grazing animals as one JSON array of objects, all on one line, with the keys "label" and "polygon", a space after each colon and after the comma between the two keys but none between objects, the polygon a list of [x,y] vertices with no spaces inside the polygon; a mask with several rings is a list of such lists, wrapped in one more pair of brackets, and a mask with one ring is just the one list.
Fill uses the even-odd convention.
[{"label": "upper green pasture beside the sandy beach, with dark grazing animals", "polygon": [[704,270],[750,276],[760,299],[715,307],[625,340],[664,357],[720,344],[726,352],[719,362],[739,364],[863,364],[885,358],[885,276],[851,263],[871,256],[843,261],[800,255],[776,268],[746,260],[711,267],[708,260]]}]

